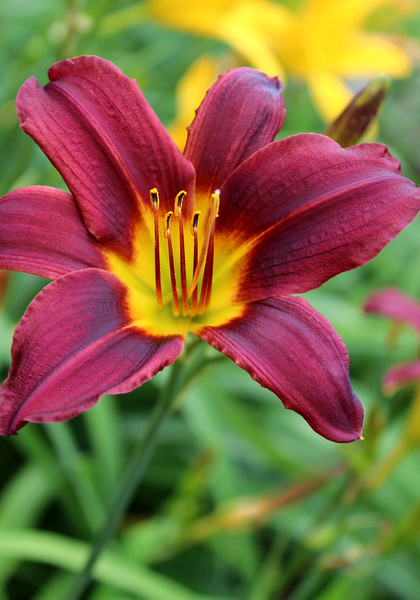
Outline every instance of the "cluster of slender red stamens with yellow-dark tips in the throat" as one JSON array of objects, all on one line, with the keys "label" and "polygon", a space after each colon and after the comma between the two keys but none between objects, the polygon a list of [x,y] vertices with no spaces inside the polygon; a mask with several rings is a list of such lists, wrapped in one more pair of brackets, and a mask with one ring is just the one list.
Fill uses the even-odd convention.
[{"label": "cluster of slender red stamens with yellow-dark tips in the throat", "polygon": [[[173,312],[178,317],[181,312],[183,316],[190,315],[195,317],[197,314],[202,315],[208,308],[211,300],[212,282],[213,282],[213,263],[214,263],[214,231],[216,218],[219,215],[220,190],[216,190],[211,195],[211,204],[207,215],[207,223],[205,227],[204,240],[199,252],[198,240],[198,221],[201,211],[195,211],[191,219],[191,234],[194,239],[193,246],[193,268],[192,280],[188,286],[187,268],[185,256],[185,238],[184,238],[184,221],[182,214],[182,202],[186,196],[185,191],[181,191],[175,198],[174,210],[166,213],[164,217],[164,236],[167,241],[167,251],[160,248],[159,242],[159,192],[156,188],[150,190],[150,202],[154,212],[154,249],[155,249],[155,287],[156,287],[156,302],[159,308],[163,306],[162,299],[162,270],[161,260],[167,255],[169,262],[169,272],[172,288]],[[175,271],[175,259],[172,246],[171,235],[171,218],[178,219],[179,231],[179,276],[181,284],[181,302],[178,296],[178,283]],[[204,269],[204,272],[203,272]],[[200,275],[203,272],[201,291],[199,294]]]}]

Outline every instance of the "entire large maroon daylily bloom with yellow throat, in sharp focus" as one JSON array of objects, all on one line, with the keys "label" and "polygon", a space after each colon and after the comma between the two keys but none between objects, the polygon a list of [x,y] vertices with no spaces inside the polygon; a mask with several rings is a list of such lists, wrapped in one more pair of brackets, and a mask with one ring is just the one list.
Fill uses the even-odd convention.
[{"label": "entire large maroon daylily bloom with yellow throat, in sharp focus", "polygon": [[112,63],[65,60],[49,78],[23,85],[18,114],[70,193],[0,201],[0,268],[55,279],[16,329],[0,433],[132,390],[192,332],[324,437],[360,437],[346,348],[291,294],[364,264],[417,214],[386,147],[273,142],[283,85],[249,68],[207,93],[184,154]]}]

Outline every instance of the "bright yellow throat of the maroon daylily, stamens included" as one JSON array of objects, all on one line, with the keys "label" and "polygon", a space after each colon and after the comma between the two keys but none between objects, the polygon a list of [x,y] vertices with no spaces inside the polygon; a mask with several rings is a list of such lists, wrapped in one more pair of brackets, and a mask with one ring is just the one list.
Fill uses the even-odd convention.
[{"label": "bright yellow throat of the maroon daylily, stamens included", "polygon": [[[126,287],[130,322],[150,335],[186,337],[203,326],[219,326],[240,316],[235,303],[238,273],[235,253],[215,243],[220,192],[207,203],[206,215],[188,215],[176,195],[174,210],[159,214],[159,191],[150,190],[151,211],[134,234],[130,261],[107,252],[108,269]],[[204,220],[205,219],[205,220]],[[215,254],[215,246],[219,251]]]}]

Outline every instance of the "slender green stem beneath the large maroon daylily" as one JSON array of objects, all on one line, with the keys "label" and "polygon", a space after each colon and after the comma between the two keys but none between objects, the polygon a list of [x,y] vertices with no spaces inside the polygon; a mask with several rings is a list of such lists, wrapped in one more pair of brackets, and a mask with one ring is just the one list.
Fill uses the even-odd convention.
[{"label": "slender green stem beneath the large maroon daylily", "polygon": [[182,388],[183,379],[184,363],[182,358],[178,358],[172,366],[171,376],[167,385],[160,393],[159,400],[150,416],[148,427],[134,449],[131,462],[121,481],[119,492],[111,507],[108,521],[93,544],[89,559],[83,570],[77,575],[67,600],[79,600],[86,587],[89,585],[92,569],[95,566],[96,561],[117,528],[122,515],[129,506],[146,473],[153,451],[156,447],[156,434]]}]

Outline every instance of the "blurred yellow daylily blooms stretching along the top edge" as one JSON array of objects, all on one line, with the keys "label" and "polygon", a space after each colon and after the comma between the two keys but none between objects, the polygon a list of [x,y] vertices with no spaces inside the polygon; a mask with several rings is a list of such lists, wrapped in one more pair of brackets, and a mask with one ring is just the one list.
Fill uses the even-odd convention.
[{"label": "blurred yellow daylily blooms stretching along the top edge", "polygon": [[407,12],[417,0],[305,0],[294,11],[268,0],[149,0],[148,6],[153,18],[220,39],[257,69],[283,78],[284,69],[305,80],[326,122],[351,99],[345,79],[410,74],[397,41],[364,27],[377,9]]}]

